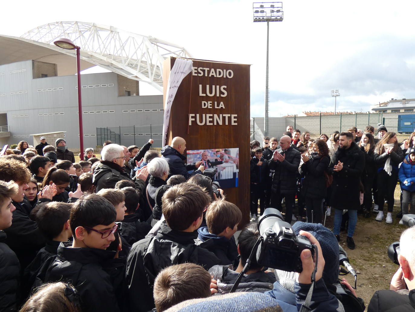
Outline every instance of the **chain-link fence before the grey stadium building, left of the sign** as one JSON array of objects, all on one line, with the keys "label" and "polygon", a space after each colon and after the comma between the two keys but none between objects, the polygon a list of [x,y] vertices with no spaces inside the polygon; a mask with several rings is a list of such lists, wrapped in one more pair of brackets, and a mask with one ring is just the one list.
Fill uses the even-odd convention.
[{"label": "chain-link fence before the grey stadium building, left of the sign", "polygon": [[161,146],[163,138],[162,124],[149,124],[144,126],[118,126],[97,128],[97,145],[102,146],[104,141],[112,141],[112,143],[124,146],[143,146],[149,139],[154,140],[152,147]]}]

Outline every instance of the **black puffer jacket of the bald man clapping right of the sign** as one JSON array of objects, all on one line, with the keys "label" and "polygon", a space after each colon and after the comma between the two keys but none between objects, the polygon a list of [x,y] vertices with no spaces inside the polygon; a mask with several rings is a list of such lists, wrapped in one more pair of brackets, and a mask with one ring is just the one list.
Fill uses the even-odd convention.
[{"label": "black puffer jacket of the bald man clapping right of the sign", "polygon": [[285,155],[284,161],[269,162],[269,168],[275,170],[272,179],[272,191],[278,190],[282,195],[295,194],[297,192],[297,173],[298,166],[300,166],[301,154],[292,145],[285,151],[282,149],[277,150],[279,154]]}]

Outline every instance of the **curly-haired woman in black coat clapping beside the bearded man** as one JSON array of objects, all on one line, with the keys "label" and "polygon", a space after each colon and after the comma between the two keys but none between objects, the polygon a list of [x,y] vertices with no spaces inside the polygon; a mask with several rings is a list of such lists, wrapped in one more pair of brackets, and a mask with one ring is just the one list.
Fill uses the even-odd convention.
[{"label": "curly-haired woman in black coat clapping beside the bearded man", "polygon": [[305,198],[307,219],[311,223],[322,223],[323,199],[327,195],[325,170],[329,166],[329,148],[325,141],[317,139],[312,143],[310,158],[301,154],[303,166],[301,173],[305,174],[302,196]]}]

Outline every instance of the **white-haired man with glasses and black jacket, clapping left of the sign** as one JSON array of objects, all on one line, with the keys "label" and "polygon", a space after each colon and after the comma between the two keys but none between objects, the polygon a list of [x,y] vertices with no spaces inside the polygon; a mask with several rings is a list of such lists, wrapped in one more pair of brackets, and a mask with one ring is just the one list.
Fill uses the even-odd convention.
[{"label": "white-haired man with glasses and black jacket, clapping left of the sign", "polygon": [[[114,188],[115,183],[121,180],[131,180],[123,168],[125,162],[124,147],[118,144],[108,144],[101,151],[102,160],[96,166],[92,181],[97,192],[102,188]],[[146,167],[137,170],[135,176],[136,188],[144,193],[145,182],[148,176]],[[134,180],[134,179],[133,179]]]}]

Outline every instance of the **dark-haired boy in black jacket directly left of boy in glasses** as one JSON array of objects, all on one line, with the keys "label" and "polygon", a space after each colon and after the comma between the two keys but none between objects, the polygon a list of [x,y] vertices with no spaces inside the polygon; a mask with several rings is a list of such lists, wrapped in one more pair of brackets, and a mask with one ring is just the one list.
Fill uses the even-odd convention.
[{"label": "dark-haired boy in black jacket directly left of boy in glasses", "polygon": [[[37,209],[39,206],[40,208]],[[46,246],[39,250],[34,260],[24,270],[24,296],[29,295],[36,275],[44,262],[49,257],[57,255],[59,244],[67,242],[72,235],[69,225],[71,204],[53,201],[39,204],[38,207],[33,210],[30,217],[36,221],[39,231],[47,238],[47,242]]]}]

